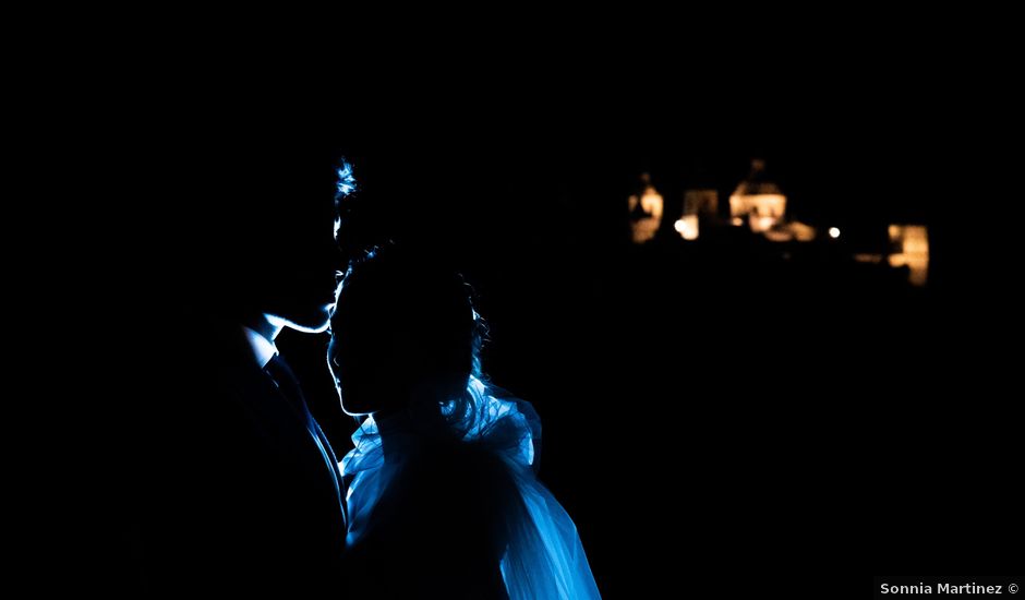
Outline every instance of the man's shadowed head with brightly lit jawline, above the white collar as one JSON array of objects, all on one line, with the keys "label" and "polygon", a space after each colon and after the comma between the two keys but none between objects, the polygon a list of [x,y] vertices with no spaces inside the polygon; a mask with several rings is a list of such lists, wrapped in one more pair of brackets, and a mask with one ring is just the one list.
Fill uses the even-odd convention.
[{"label": "man's shadowed head with brightly lit jawline, above the white collar", "polygon": [[181,235],[169,251],[182,254],[190,312],[323,332],[345,266],[335,240],[343,132],[333,111],[263,108],[218,101],[184,127],[202,143],[174,156],[167,214]]}]

